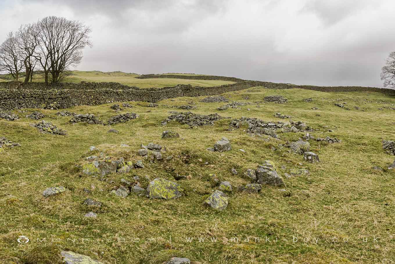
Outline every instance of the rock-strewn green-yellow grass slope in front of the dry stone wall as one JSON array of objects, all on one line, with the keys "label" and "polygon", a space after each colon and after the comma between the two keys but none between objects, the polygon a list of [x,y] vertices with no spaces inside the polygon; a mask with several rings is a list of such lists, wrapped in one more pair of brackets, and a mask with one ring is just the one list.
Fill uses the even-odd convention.
[{"label": "rock-strewn green-yellow grass slope in front of the dry stone wall", "polygon": [[[101,74],[99,74],[101,76]],[[98,77],[99,78],[99,77]],[[287,104],[255,104],[239,109],[218,111],[225,103],[200,103],[203,97],[181,97],[160,101],[157,108],[130,102],[132,112],[140,118],[124,124],[113,125],[119,134],[109,134],[109,127],[68,122],[68,117],[58,117],[56,110],[42,110],[44,120],[51,121],[68,131],[68,136],[41,134],[27,118],[14,122],[0,120],[0,136],[21,143],[21,147],[7,149],[0,154],[0,263],[46,264],[61,263],[60,250],[68,249],[91,256],[105,263],[157,264],[172,256],[187,257],[194,264],[258,264],[258,263],[393,263],[394,185],[395,172],[374,171],[386,168],[393,162],[381,148],[382,139],[394,139],[394,110],[378,110],[383,103],[395,103],[393,97],[379,93],[324,93],[303,89],[264,89],[253,87],[226,93],[230,100],[239,102],[261,101],[266,95],[283,95]],[[244,100],[245,96],[249,100]],[[302,99],[312,97],[312,103]],[[351,110],[334,106],[337,100],[346,101]],[[227,131],[229,120],[220,120],[214,126],[189,129],[186,125],[169,122],[160,125],[179,106],[193,101],[198,109],[193,112],[238,118],[256,117],[266,121],[284,121],[273,116],[275,112],[294,116],[316,131],[315,137],[337,137],[337,144],[320,144],[310,141],[311,151],[320,156],[321,163],[310,164],[303,157],[290,154],[287,148],[273,151],[286,141],[296,141],[304,133],[279,133],[280,141],[264,141],[250,137],[241,129]],[[109,107],[76,106],[69,111],[93,113],[107,120],[115,115]],[[311,110],[313,106],[319,110]],[[355,110],[354,106],[364,109]],[[251,111],[247,111],[250,108]],[[149,112],[149,110],[151,110]],[[16,112],[16,111],[14,111]],[[126,111],[123,111],[126,112]],[[316,116],[319,114],[320,116]],[[20,114],[23,116],[23,114]],[[287,121],[287,120],[285,120]],[[328,125],[333,132],[323,128]],[[180,134],[180,139],[164,140],[164,130]],[[233,146],[230,152],[216,153],[206,150],[222,137]],[[73,164],[81,163],[87,156],[88,147],[97,146],[112,157],[138,160],[137,150],[141,143],[155,142],[166,146],[164,156],[173,155],[171,161],[150,164],[145,169],[132,170],[129,174],[110,175],[116,183],[107,183],[82,175]],[[128,148],[120,148],[125,143]],[[246,150],[240,152],[239,148]],[[264,186],[258,195],[230,194],[229,206],[222,212],[203,207],[208,194],[213,192],[206,181],[215,173],[234,186],[246,184],[243,172],[256,168],[264,160],[271,160],[284,178],[286,190],[291,197],[282,196],[282,188]],[[209,165],[205,165],[205,162]],[[286,169],[282,169],[285,165]],[[232,175],[235,167],[239,175]],[[295,168],[306,168],[309,175],[286,178]],[[179,183],[186,196],[175,200],[148,199],[130,195],[127,198],[112,196],[109,191],[119,184],[121,178],[132,179],[139,175],[143,188],[148,180],[164,177],[174,180],[173,175],[191,175]],[[44,198],[42,191],[50,186],[62,185],[68,190],[58,196]],[[91,186],[94,186],[92,190]],[[83,192],[92,190],[92,194]],[[102,189],[102,191],[100,191]],[[81,205],[86,198],[103,202],[98,218],[87,219],[83,215],[91,211]],[[26,235],[33,241],[19,245],[18,236]],[[172,237],[171,243],[169,236]],[[218,242],[199,243],[197,237],[218,237]],[[231,237],[239,237],[235,243]],[[264,242],[265,237],[271,242]],[[292,242],[297,236],[299,241]],[[373,243],[373,236],[379,237]],[[37,243],[37,237],[46,237],[46,245]],[[51,237],[61,237],[61,242],[51,242]],[[91,237],[110,239],[109,242],[70,243],[67,237]],[[139,237],[140,242],[117,243],[117,237]],[[188,243],[185,237],[195,237]],[[260,237],[260,243],[245,243],[244,237]],[[275,237],[278,241],[274,242]],[[301,242],[308,237],[309,242]],[[318,237],[318,243],[312,242]],[[332,242],[338,237],[339,242]],[[342,239],[348,237],[348,242]],[[369,241],[364,243],[363,237]],[[149,238],[155,238],[149,241]],[[206,239],[206,241],[207,241]],[[48,242],[49,241],[49,242]]]}]

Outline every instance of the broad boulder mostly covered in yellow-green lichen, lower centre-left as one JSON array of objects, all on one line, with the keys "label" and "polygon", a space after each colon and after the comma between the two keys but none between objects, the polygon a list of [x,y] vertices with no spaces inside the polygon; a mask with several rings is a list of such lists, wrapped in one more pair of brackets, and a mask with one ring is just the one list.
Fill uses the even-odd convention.
[{"label": "broad boulder mostly covered in yellow-green lichen, lower centre-left", "polygon": [[156,178],[148,184],[148,198],[176,199],[182,196],[181,185],[163,178]]}]

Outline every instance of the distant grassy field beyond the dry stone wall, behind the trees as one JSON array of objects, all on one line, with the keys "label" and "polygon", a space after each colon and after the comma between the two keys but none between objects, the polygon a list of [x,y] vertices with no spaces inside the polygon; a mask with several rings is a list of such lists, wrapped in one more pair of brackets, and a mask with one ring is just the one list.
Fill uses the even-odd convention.
[{"label": "distant grassy field beyond the dry stone wall, behind the trees", "polygon": [[[188,74],[179,74],[188,75]],[[192,74],[191,74],[192,75]],[[152,79],[136,79],[135,77],[139,74],[125,73],[125,72],[100,72],[94,71],[73,71],[73,74],[66,78],[64,82],[79,83],[81,81],[86,82],[119,82],[121,84],[138,86],[141,88],[150,87],[169,87],[177,84],[191,84],[194,86],[217,86],[223,84],[234,84],[234,82],[222,81],[222,80],[188,80],[188,79],[176,79],[176,78],[152,78]],[[19,79],[23,81],[23,78]],[[7,81],[0,78],[0,81]],[[33,75],[33,82],[44,82],[43,76],[40,74]]]}]

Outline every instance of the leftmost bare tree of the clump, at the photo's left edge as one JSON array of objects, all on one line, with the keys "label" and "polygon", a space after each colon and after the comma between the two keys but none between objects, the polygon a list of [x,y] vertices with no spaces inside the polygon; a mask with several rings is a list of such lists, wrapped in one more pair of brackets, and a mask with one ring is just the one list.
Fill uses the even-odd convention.
[{"label": "leftmost bare tree of the clump, at the photo's left edge", "polygon": [[5,71],[19,80],[19,73],[23,70],[23,60],[19,52],[17,35],[9,32],[7,39],[0,46],[0,72]]}]

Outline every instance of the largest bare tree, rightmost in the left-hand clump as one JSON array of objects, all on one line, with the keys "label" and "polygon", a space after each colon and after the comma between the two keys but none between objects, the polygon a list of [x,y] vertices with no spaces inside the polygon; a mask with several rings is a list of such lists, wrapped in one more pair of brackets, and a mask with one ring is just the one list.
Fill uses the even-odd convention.
[{"label": "largest bare tree, rightmost in the left-hand clump", "polygon": [[81,63],[84,47],[92,47],[89,33],[83,23],[64,17],[45,17],[38,22],[40,47],[36,58],[40,61],[45,83],[60,82],[70,66]]}]

